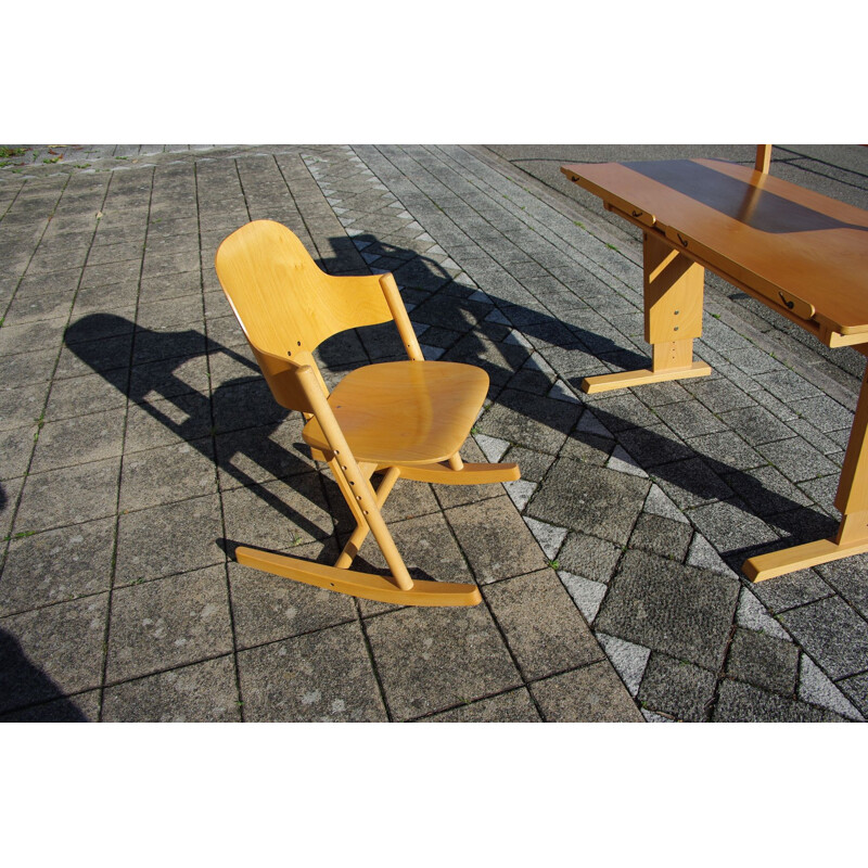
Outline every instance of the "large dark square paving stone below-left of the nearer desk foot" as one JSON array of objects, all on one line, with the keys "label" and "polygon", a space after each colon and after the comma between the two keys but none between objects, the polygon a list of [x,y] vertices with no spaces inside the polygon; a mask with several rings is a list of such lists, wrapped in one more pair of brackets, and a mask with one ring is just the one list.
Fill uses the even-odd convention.
[{"label": "large dark square paving stone below-left of the nearer desk foot", "polygon": [[595,628],[717,671],[738,602],[738,583],[709,570],[628,551],[609,583]]}]

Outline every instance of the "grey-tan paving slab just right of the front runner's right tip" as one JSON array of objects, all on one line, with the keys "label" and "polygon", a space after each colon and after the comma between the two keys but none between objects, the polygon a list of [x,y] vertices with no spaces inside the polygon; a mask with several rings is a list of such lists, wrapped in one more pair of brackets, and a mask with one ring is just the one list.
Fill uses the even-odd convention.
[{"label": "grey-tan paving slab just right of the front runner's right tip", "polygon": [[554,571],[487,585],[483,592],[525,678],[542,678],[603,659]]}]

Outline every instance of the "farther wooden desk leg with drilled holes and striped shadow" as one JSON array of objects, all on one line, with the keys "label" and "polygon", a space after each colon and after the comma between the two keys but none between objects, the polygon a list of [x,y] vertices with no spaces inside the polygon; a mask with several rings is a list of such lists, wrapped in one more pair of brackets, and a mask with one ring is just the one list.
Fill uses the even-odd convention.
[{"label": "farther wooden desk leg with drilled holes and striped shadow", "polygon": [[587,376],[582,391],[663,383],[688,376],[707,376],[712,369],[693,361],[693,339],[702,334],[702,294],[705,269],[675,250],[663,238],[643,238],[644,340],[651,344],[651,367],[638,371]]}]

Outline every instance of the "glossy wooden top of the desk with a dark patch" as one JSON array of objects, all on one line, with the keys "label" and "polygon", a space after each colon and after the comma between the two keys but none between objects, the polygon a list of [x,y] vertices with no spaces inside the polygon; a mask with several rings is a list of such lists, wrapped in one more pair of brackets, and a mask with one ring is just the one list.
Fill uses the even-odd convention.
[{"label": "glossy wooden top of the desk with a dark patch", "polygon": [[839,343],[868,341],[867,210],[715,159],[572,164],[561,171],[786,308],[827,343],[837,345],[840,335],[852,337]]}]

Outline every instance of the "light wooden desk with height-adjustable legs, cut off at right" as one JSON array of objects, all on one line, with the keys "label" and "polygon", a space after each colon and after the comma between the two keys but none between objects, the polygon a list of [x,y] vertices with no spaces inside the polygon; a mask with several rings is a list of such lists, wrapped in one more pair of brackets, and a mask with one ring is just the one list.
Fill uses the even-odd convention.
[{"label": "light wooden desk with height-adjustable legs, cut off at right", "polygon": [[[868,356],[868,212],[714,159],[573,164],[561,171],[642,229],[648,369],[589,376],[587,393],[690,376],[705,269],[830,347]],[[838,533],[745,561],[754,582],[868,551],[868,371],[834,501]]]}]

